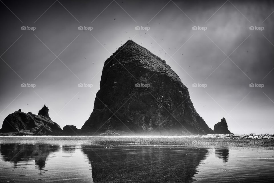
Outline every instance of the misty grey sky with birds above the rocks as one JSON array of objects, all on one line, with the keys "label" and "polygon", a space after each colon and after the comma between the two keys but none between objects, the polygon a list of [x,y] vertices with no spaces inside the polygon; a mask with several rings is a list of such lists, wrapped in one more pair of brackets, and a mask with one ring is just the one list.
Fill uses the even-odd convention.
[{"label": "misty grey sky with birds above the rocks", "polygon": [[209,2],[1,0],[0,126],[46,104],[61,128],[81,128],[104,61],[132,39],[166,60],[210,128],[224,117],[235,134],[274,133],[274,3]]}]

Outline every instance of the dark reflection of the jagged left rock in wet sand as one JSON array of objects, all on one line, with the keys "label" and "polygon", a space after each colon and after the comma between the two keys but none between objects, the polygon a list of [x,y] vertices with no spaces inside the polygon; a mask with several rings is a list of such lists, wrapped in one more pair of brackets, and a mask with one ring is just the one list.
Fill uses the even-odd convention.
[{"label": "dark reflection of the jagged left rock in wet sand", "polygon": [[0,153],[4,159],[13,163],[17,168],[17,162],[35,159],[35,168],[44,170],[46,159],[50,153],[59,150],[59,146],[48,144],[1,144]]}]

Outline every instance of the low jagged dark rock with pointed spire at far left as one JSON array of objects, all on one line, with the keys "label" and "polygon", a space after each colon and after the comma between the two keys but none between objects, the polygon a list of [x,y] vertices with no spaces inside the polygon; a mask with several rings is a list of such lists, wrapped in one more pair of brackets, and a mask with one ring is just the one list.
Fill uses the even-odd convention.
[{"label": "low jagged dark rock with pointed spire at far left", "polygon": [[[39,115],[28,112],[27,114],[21,110],[9,114],[2,125],[1,133],[17,132],[18,134],[28,135],[50,135],[62,131],[60,126],[53,122],[48,116],[49,109],[44,106]],[[43,114],[43,115],[42,115]]]}]

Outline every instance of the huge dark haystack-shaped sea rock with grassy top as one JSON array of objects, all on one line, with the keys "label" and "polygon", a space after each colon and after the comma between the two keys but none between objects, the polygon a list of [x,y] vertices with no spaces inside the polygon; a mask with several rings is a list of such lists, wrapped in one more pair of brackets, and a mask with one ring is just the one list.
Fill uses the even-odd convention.
[{"label": "huge dark haystack-shaped sea rock with grassy top", "polygon": [[83,131],[208,134],[187,87],[165,61],[128,40],[104,63],[93,112]]}]

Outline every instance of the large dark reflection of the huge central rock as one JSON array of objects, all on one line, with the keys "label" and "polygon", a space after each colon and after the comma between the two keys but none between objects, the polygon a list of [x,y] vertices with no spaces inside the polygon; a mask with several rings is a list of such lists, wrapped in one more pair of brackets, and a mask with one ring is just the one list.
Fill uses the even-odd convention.
[{"label": "large dark reflection of the huge central rock", "polygon": [[94,182],[189,182],[207,149],[82,146]]}]

